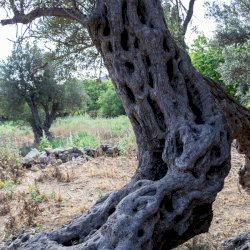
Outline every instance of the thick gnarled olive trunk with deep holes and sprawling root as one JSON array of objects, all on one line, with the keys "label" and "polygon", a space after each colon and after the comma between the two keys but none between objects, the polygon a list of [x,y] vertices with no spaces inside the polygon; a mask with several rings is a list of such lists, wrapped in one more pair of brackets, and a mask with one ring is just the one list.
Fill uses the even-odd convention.
[{"label": "thick gnarled olive trunk with deep holes and sprawling root", "polygon": [[97,1],[96,17],[89,33],[133,125],[138,169],[87,214],[5,249],[171,249],[208,230],[232,139],[249,148],[248,110],[192,67],[159,1]]}]

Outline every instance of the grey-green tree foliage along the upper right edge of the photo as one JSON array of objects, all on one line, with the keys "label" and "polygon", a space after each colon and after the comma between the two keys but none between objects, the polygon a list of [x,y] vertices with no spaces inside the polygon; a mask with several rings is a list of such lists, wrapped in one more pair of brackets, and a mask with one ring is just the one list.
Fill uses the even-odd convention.
[{"label": "grey-green tree foliage along the upper right edge of the photo", "polygon": [[224,62],[218,67],[227,88],[233,86],[241,103],[250,105],[250,4],[233,0],[230,4],[207,3],[209,15],[216,20],[215,41]]}]

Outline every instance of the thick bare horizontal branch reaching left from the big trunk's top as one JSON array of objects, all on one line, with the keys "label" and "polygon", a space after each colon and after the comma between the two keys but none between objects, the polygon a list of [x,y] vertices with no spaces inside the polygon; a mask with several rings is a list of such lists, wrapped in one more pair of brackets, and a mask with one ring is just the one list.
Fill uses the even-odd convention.
[{"label": "thick bare horizontal branch reaching left from the big trunk's top", "polygon": [[81,13],[76,9],[66,8],[37,8],[29,12],[28,14],[17,14],[10,19],[1,20],[2,25],[22,23],[28,24],[39,17],[64,17],[72,20],[77,20],[83,26],[87,26],[89,16]]}]

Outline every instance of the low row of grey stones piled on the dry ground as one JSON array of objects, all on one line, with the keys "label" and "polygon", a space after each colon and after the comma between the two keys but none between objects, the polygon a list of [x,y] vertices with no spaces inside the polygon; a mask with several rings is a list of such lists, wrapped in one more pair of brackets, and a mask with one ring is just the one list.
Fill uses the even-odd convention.
[{"label": "low row of grey stones piled on the dry ground", "polygon": [[84,148],[56,148],[56,149],[45,149],[39,152],[36,148],[31,151],[22,159],[22,165],[30,168],[33,165],[39,164],[40,167],[45,167],[52,163],[65,163],[73,160],[90,160],[100,156],[115,157],[119,155],[117,147],[110,145],[99,145],[96,148],[84,147]]}]

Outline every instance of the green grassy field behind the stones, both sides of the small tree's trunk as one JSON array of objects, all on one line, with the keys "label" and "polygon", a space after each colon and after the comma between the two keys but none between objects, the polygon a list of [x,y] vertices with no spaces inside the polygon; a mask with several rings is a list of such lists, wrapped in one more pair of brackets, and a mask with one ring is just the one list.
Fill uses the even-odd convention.
[{"label": "green grassy field behind the stones, both sides of the small tree's trunk", "polygon": [[[126,116],[116,118],[90,118],[87,115],[58,118],[51,127],[54,139],[47,146],[95,147],[108,143],[121,152],[135,148],[135,138]],[[29,126],[6,122],[0,125],[0,147],[8,146],[26,152],[33,146],[33,133]],[[41,145],[43,147],[43,145]],[[46,146],[46,143],[45,143]],[[26,148],[26,150],[24,150]]]}]

